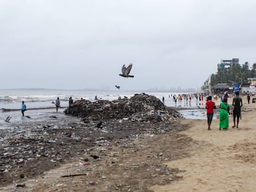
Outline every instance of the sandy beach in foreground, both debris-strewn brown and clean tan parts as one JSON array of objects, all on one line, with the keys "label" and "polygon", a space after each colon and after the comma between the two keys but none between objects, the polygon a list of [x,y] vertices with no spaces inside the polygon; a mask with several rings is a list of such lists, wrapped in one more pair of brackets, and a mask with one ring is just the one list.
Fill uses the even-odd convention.
[{"label": "sandy beach in foreground, both debris-strewn brown and clean tan parts", "polygon": [[226,131],[218,129],[218,119],[210,131],[207,120],[182,119],[180,131],[103,140],[56,169],[16,175],[0,191],[255,191],[256,105],[245,102],[239,128],[231,128],[233,117]]}]

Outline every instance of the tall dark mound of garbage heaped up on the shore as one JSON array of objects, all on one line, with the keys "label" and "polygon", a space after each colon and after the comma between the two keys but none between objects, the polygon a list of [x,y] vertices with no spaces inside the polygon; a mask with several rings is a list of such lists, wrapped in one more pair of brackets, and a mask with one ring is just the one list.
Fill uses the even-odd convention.
[{"label": "tall dark mound of garbage heaped up on the shore", "polygon": [[126,119],[137,122],[177,122],[182,115],[164,106],[155,96],[145,93],[114,101],[75,101],[64,113],[80,117],[84,122],[94,120]]}]

